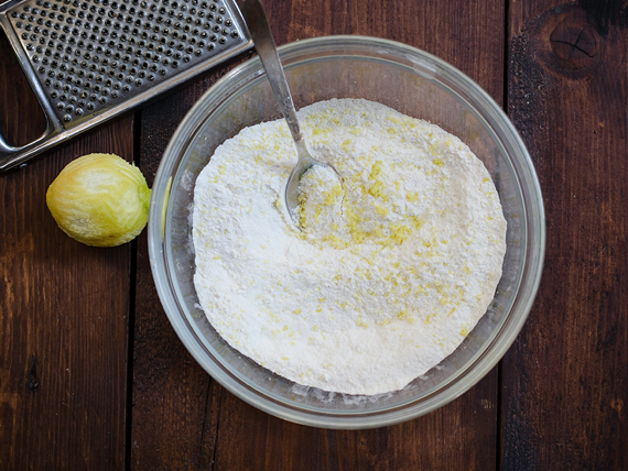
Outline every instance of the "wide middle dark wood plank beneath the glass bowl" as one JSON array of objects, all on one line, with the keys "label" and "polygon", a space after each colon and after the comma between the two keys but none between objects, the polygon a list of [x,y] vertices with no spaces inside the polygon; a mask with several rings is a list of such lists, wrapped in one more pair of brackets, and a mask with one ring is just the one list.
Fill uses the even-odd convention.
[{"label": "wide middle dark wood plank beneath the glass bowl", "polygon": [[[292,1],[264,6],[278,44],[324,34],[388,37],[426,50],[504,96],[501,1]],[[183,114],[209,86],[196,81],[142,112],[149,177]],[[132,468],[481,469],[496,467],[497,370],[446,407],[366,431],[321,430],[256,410],[209,380],[174,335],[138,247]]]}]

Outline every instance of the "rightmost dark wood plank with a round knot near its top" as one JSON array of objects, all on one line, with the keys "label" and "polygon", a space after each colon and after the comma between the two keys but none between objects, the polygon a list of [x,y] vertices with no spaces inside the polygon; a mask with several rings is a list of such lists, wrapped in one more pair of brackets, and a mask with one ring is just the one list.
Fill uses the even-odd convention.
[{"label": "rightmost dark wood plank with a round knot near its top", "polygon": [[508,111],[539,173],[548,245],[504,360],[505,470],[628,468],[628,9],[582,6],[510,2]]}]

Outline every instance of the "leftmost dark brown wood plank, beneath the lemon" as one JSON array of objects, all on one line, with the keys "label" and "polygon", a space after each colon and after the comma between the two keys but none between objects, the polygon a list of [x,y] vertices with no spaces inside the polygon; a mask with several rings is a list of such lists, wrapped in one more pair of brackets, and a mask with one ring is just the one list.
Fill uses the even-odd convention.
[{"label": "leftmost dark brown wood plank, beneath the lemon", "polygon": [[[0,51],[2,116],[28,142],[36,101]],[[11,88],[13,86],[14,88]],[[22,100],[21,98],[24,97]],[[7,122],[7,121],[6,121]],[[131,247],[96,249],[56,227],[45,193],[73,158],[132,158],[131,117],[0,176],[0,469],[124,467]]]}]

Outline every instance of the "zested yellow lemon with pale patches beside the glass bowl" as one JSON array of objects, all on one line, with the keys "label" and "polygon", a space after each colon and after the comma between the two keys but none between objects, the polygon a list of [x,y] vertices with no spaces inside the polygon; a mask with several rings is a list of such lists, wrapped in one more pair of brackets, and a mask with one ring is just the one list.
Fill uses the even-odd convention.
[{"label": "zested yellow lemon with pale patches beside the glass bowl", "polygon": [[140,169],[113,154],[89,154],[61,171],[46,193],[58,227],[87,245],[115,247],[149,220],[151,190]]}]

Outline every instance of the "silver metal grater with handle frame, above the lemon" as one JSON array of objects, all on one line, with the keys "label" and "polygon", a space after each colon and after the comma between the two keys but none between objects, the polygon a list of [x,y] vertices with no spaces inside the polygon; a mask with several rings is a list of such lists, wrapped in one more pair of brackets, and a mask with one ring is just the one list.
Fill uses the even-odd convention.
[{"label": "silver metal grater with handle frame, above the lemon", "polygon": [[10,146],[0,171],[252,46],[232,0],[25,0],[0,6],[47,127]]}]

